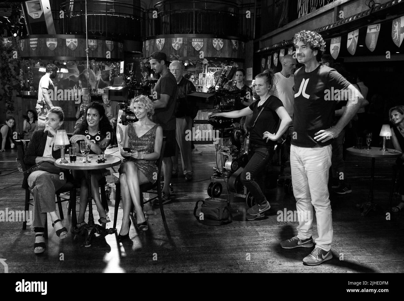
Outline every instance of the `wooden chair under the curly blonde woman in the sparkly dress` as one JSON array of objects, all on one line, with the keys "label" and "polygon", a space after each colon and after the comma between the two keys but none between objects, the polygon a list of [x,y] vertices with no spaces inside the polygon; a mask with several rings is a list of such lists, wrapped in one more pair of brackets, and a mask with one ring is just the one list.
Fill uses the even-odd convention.
[{"label": "wooden chair under the curly blonde woman in the sparkly dress", "polygon": [[[164,158],[164,148],[166,147],[166,137],[163,137],[163,143],[161,145],[161,150],[160,150],[160,158],[158,159],[157,162],[157,180],[156,182],[153,183],[146,183],[146,184],[142,184],[140,185],[140,203],[142,205],[142,207],[144,206],[144,204],[147,204],[148,202],[151,202],[153,200],[155,200],[156,198],[158,198],[159,202],[160,202],[160,212],[161,212],[161,218],[164,221],[166,221],[166,216],[164,215],[164,208],[163,208],[163,200],[161,198],[161,166],[163,164],[163,158]],[[115,175],[115,174],[114,174]],[[119,183],[119,175],[118,175],[118,179],[115,181],[115,185],[116,185],[116,192],[115,192],[115,210],[114,210],[114,228],[116,228],[116,222],[118,219],[118,208],[119,208],[119,204],[121,202],[121,185]],[[154,198],[149,198],[149,200],[147,201],[143,201],[143,193],[152,193],[152,194],[156,194],[155,191],[152,191],[152,189],[157,188],[157,196],[155,196]],[[132,208],[133,208],[133,204],[132,204]]]}]

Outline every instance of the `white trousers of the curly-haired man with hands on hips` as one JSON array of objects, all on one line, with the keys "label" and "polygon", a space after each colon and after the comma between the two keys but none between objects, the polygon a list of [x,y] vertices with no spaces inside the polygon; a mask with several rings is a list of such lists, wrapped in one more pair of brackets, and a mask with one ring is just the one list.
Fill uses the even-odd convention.
[{"label": "white trousers of the curly-haired man with hands on hips", "polygon": [[313,206],[316,209],[318,239],[316,245],[328,251],[332,241],[332,215],[328,193],[328,177],[331,166],[331,145],[324,147],[290,147],[290,168],[293,194],[296,199],[297,237],[311,237]]}]

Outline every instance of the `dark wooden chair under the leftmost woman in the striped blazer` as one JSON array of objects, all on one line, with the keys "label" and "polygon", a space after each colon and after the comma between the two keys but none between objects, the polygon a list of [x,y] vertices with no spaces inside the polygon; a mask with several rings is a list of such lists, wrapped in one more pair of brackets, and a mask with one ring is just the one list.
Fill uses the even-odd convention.
[{"label": "dark wooden chair under the leftmost woman in the striped blazer", "polygon": [[[25,156],[25,148],[27,146],[27,144],[29,143],[29,140],[16,140],[15,141],[15,145],[17,147],[17,168],[19,171],[21,172],[25,172],[28,168],[24,163],[24,156]],[[76,203],[76,188],[74,188],[74,184],[71,182],[67,182],[63,187],[61,187],[59,190],[56,191],[56,203],[57,206],[59,208],[59,215],[60,215],[60,219],[64,219],[63,216],[63,208],[62,208],[62,202],[65,202],[67,200],[62,199],[60,194],[61,193],[65,193],[65,192],[69,192],[70,196],[69,196],[69,204],[72,204],[73,202]],[[30,197],[30,193],[31,190],[25,189],[25,212],[27,212],[29,210],[29,205],[33,205],[30,203],[30,201],[33,201],[34,199]],[[76,218],[76,212],[74,212],[73,216],[72,216],[72,224],[76,224],[77,223],[77,218]],[[48,217],[46,216],[46,222],[45,225],[48,224]],[[23,222],[23,230],[27,229],[27,221],[25,220]],[[45,226],[45,238],[48,238],[48,227]]]}]

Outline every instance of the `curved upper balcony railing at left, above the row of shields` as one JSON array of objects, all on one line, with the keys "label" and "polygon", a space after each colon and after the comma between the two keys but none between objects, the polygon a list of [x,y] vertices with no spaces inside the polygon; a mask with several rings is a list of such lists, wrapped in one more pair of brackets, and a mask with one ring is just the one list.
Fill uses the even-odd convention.
[{"label": "curved upper balcony railing at left, above the row of shields", "polygon": [[[84,0],[65,1],[53,13],[59,34],[86,34],[86,6]],[[87,26],[90,36],[140,40],[145,10],[140,6],[118,1],[87,0]]]}]

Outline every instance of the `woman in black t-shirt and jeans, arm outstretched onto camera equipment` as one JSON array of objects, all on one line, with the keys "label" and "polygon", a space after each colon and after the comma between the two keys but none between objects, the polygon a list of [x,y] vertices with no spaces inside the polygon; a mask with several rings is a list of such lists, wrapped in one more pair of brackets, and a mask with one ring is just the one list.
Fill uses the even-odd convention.
[{"label": "woman in black t-shirt and jeans, arm outstretched onto camera equipment", "polygon": [[[255,77],[254,86],[257,95],[260,97],[259,100],[239,111],[211,115],[211,117],[239,118],[252,114],[251,122],[252,124],[255,122],[250,131],[248,163],[241,174],[243,185],[250,191],[256,203],[247,210],[247,220],[249,221],[262,217],[264,212],[271,208],[264,195],[265,168],[274,155],[276,141],[292,122],[282,101],[278,97],[270,95],[272,76],[269,72],[258,74]],[[279,120],[281,120],[281,123],[275,133]]]}]

